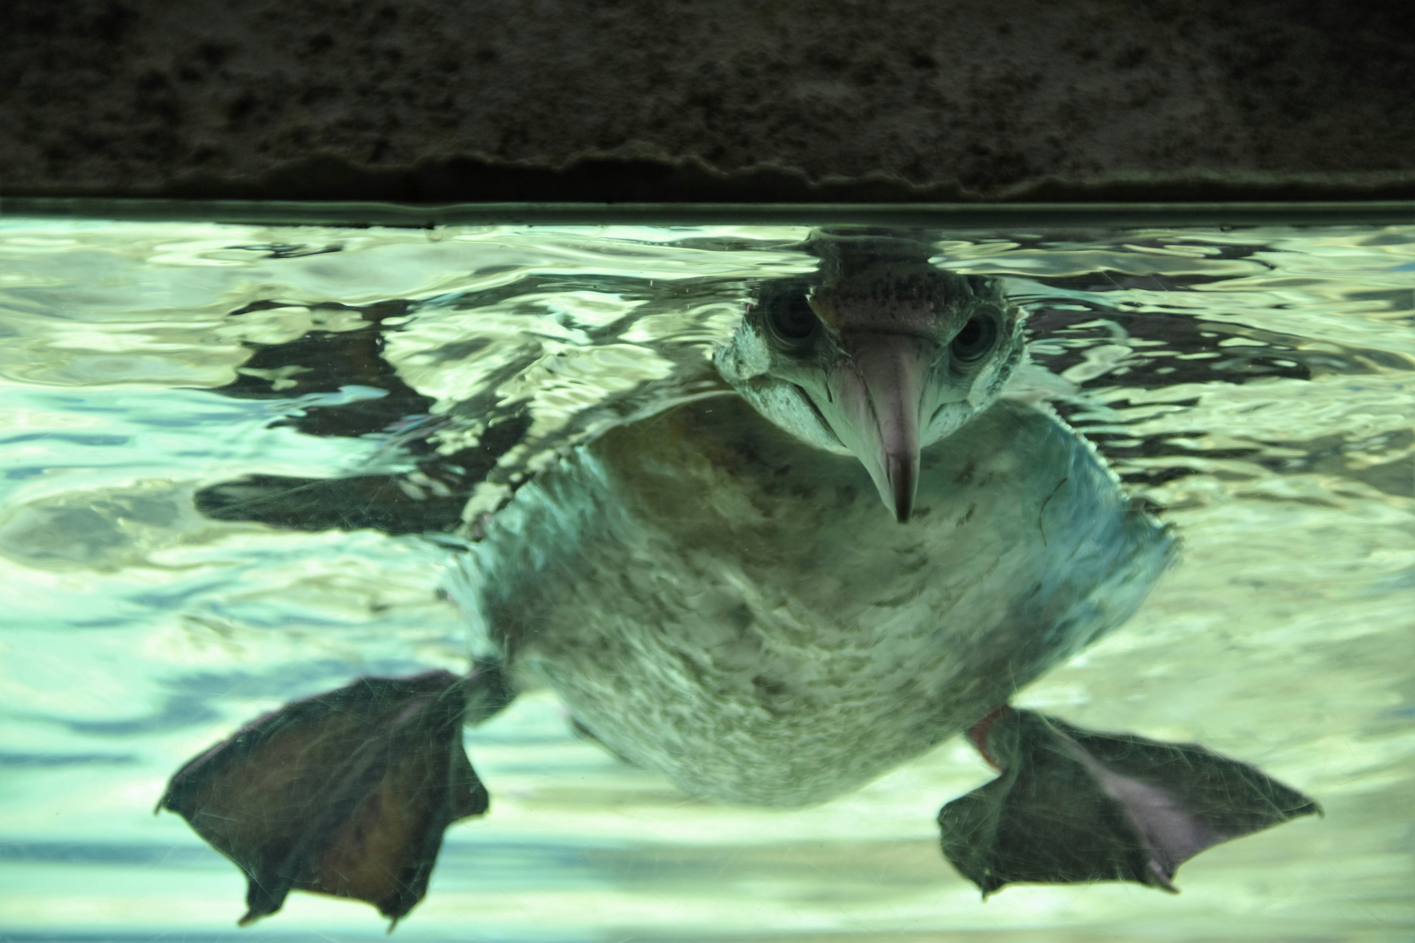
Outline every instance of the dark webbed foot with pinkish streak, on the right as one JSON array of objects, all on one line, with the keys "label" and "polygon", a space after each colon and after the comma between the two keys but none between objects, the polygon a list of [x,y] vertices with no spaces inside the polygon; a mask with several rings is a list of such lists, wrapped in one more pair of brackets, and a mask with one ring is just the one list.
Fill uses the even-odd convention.
[{"label": "dark webbed foot with pinkish streak, on the right", "polygon": [[1197,744],[1097,734],[1010,707],[971,737],[1002,775],[945,804],[938,826],[944,855],[983,896],[1019,881],[1174,892],[1174,871],[1200,851],[1322,812]]}]

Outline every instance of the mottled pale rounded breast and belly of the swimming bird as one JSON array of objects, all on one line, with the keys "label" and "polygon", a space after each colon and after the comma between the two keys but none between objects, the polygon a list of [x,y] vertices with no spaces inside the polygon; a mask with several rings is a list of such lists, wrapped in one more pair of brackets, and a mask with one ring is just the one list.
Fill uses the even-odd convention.
[{"label": "mottled pale rounded breast and belly of the swimming bird", "polygon": [[913,519],[740,397],[613,430],[518,492],[453,594],[483,657],[730,803],[831,799],[1124,622],[1173,540],[1057,418],[924,450]]}]

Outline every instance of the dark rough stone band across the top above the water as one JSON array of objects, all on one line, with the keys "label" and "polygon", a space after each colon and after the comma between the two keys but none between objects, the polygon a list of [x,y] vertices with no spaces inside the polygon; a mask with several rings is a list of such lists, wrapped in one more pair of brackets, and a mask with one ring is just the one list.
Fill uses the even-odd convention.
[{"label": "dark rough stone band across the top above the water", "polygon": [[0,194],[1408,197],[1412,10],[6,0]]}]

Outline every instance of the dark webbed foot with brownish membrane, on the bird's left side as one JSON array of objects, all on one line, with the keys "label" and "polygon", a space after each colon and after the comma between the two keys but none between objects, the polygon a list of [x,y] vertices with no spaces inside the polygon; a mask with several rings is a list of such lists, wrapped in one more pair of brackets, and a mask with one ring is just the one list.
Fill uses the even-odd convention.
[{"label": "dark webbed foot with brownish membrane, on the bird's left side", "polygon": [[495,667],[359,679],[195,756],[157,807],[245,872],[241,926],[279,910],[291,889],[366,901],[396,925],[426,894],[447,826],[490,803],[463,722],[508,701]]}]

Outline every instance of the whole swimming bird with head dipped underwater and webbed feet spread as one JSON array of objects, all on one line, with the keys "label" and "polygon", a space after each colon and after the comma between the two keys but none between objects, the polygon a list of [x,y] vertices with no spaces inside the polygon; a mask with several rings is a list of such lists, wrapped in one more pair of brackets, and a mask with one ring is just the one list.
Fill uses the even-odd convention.
[{"label": "whole swimming bird with head dipped underwater and webbed feet spread", "polygon": [[480,525],[449,585],[467,677],[355,681],[173,778],[161,804],[250,879],[243,922],[291,888],[403,916],[443,828],[488,804],[461,724],[536,687],[740,804],[824,802],[966,732],[999,776],[938,821],[985,894],[1172,889],[1199,851],[1317,810],[1203,746],[1007,707],[1139,607],[1174,539],[1074,431],[1002,396],[1024,352],[998,283],[907,238],[805,249],[818,270],[763,284],[716,352],[722,394],[604,433]]}]

